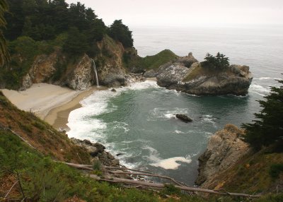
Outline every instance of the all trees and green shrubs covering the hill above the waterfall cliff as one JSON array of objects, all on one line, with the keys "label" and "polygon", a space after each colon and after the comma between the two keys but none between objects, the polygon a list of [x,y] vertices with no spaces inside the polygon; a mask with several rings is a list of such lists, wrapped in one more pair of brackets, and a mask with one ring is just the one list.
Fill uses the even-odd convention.
[{"label": "all trees and green shrubs covering the hill above the waterfall cliff", "polygon": [[[4,36],[8,40],[11,63],[8,68],[0,69],[0,85],[4,88],[18,90],[23,76],[40,54],[59,50],[58,53],[64,55],[61,57],[64,59],[57,62],[51,78],[52,81],[59,81],[68,64],[74,64],[83,54],[91,58],[107,54],[105,49],[98,48],[98,43],[108,37],[107,34],[125,47],[133,46],[132,32],[121,20],[115,20],[108,28],[91,8],[79,2],[68,5],[65,0],[9,0],[8,6]],[[0,19],[7,8],[1,4]],[[5,21],[3,23],[5,25]],[[4,27],[0,24],[0,28]],[[5,47],[5,41],[0,42]],[[106,57],[109,56],[108,53]],[[1,54],[1,57],[0,65],[5,54]]]}]

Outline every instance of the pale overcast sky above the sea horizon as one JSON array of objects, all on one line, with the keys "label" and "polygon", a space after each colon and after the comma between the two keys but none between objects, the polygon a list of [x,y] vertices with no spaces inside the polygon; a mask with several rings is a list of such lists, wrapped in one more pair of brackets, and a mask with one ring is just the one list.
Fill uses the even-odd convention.
[{"label": "pale overcast sky above the sea horizon", "polygon": [[[66,0],[68,4],[77,0]],[[283,0],[81,0],[106,25],[222,26],[283,24]]]}]

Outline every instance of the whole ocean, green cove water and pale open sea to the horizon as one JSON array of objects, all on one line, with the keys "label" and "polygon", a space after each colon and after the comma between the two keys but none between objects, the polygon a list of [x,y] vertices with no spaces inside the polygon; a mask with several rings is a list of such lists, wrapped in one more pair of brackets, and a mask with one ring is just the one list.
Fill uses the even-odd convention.
[{"label": "whole ocean, green cove water and pale open sea to the horizon", "polygon": [[[122,165],[168,175],[193,185],[197,158],[225,124],[241,126],[260,111],[257,100],[282,78],[283,28],[132,28],[141,57],[171,49],[199,61],[221,52],[230,64],[250,66],[248,95],[196,96],[167,90],[154,81],[96,91],[69,115],[69,137],[103,143]],[[174,114],[193,119],[185,124]]]}]

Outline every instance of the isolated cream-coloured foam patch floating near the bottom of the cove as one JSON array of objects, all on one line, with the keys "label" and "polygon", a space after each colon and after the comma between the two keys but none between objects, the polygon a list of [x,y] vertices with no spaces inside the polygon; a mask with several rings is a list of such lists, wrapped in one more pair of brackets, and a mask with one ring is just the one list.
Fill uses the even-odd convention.
[{"label": "isolated cream-coloured foam patch floating near the bottom of the cove", "polygon": [[151,163],[151,165],[154,167],[162,167],[163,169],[166,170],[177,170],[178,167],[180,166],[180,163],[178,162],[190,163],[192,162],[192,160],[183,157],[173,157],[173,158],[160,160],[159,162],[156,163]]}]

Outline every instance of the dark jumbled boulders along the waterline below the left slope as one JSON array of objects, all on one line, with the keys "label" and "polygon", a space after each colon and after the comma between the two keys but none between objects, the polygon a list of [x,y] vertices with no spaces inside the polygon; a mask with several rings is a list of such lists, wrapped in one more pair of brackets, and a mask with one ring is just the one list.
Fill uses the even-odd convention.
[{"label": "dark jumbled boulders along the waterline below the left slope", "polygon": [[119,160],[115,159],[113,155],[105,151],[105,146],[100,143],[91,143],[88,140],[79,140],[71,138],[71,141],[76,145],[79,145],[88,150],[88,153],[93,157],[97,158],[103,165],[106,166],[117,166],[120,165]]}]

